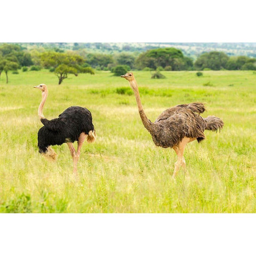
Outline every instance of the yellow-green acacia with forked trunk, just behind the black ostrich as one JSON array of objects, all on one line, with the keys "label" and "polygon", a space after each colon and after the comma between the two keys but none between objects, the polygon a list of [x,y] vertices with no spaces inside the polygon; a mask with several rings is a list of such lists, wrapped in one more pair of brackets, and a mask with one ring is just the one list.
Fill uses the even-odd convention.
[{"label": "yellow-green acacia with forked trunk, just behind the black ostrich", "polygon": [[84,68],[82,66],[85,60],[77,54],[44,52],[41,54],[41,61],[44,67],[54,68],[54,73],[59,78],[59,84],[68,77],[68,74],[74,74],[75,76],[78,76],[78,73],[94,74],[91,67]]}]

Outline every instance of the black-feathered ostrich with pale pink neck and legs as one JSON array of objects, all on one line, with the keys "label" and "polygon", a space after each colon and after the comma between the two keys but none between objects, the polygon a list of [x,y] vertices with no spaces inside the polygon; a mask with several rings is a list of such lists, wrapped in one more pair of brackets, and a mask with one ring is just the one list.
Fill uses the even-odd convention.
[{"label": "black-feathered ostrich with pale pink neck and legs", "polygon": [[[73,158],[73,172],[76,174],[77,162],[85,139],[87,138],[87,142],[91,143],[96,138],[91,112],[83,107],[72,106],[63,111],[58,118],[48,120],[43,115],[43,107],[48,95],[47,87],[45,84],[39,84],[34,88],[42,91],[38,115],[44,126],[38,131],[39,153],[55,160],[57,154],[51,145],[67,143]],[[77,141],[77,151],[72,144],[74,141]]]}]

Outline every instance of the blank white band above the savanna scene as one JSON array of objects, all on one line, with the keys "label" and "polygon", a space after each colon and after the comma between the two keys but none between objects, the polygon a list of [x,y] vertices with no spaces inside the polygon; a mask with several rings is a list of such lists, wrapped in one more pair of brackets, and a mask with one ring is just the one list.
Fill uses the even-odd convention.
[{"label": "blank white band above the savanna scene", "polygon": [[5,1],[0,42],[255,42],[249,0]]}]

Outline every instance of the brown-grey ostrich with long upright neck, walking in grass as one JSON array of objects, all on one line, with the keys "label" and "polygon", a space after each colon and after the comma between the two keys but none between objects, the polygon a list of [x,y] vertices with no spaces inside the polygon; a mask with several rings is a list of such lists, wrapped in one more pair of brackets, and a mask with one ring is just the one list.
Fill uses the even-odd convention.
[{"label": "brown-grey ostrich with long upright neck, walking in grass", "polygon": [[132,73],[121,76],[129,81],[134,92],[141,121],[149,131],[156,146],[173,148],[178,155],[178,161],[174,164],[173,178],[182,166],[186,171],[186,161],[183,157],[187,143],[205,139],[204,130],[218,131],[224,123],[219,117],[200,116],[205,111],[204,103],[194,102],[168,108],[159,115],[154,123],[146,116],[140,100],[137,82]]}]

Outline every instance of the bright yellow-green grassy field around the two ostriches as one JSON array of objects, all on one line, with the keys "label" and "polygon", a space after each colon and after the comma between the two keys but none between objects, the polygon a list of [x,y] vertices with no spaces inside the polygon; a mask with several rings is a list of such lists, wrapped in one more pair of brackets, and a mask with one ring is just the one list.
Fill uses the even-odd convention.
[{"label": "bright yellow-green grassy field around the two ostriches", "polygon": [[[0,77],[0,212],[252,213],[256,212],[256,74],[253,71],[163,71],[166,79],[134,71],[151,121],[181,103],[207,103],[223,119],[220,133],[185,150],[189,175],[171,178],[177,156],[155,147],[143,127],[129,83],[109,72],[70,75],[63,84],[47,70]],[[67,145],[57,162],[39,155],[37,116],[51,119],[72,105],[88,108],[97,141],[82,148],[78,177]],[[207,84],[205,86],[204,84]],[[76,147],[76,143],[75,143]]]}]

